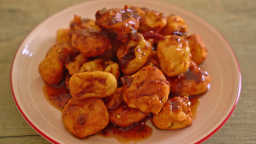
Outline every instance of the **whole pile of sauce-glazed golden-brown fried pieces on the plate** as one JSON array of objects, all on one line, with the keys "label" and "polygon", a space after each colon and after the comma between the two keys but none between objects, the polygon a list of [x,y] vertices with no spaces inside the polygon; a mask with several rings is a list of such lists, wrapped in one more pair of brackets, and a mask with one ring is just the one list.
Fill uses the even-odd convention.
[{"label": "whole pile of sauce-glazed golden-brown fried pieces on the plate", "polygon": [[95,17],[74,15],[39,65],[46,83],[64,81],[72,95],[62,110],[68,131],[84,138],[149,113],[159,129],[191,125],[189,97],[211,81],[198,66],[207,56],[201,37],[188,35],[181,17],[147,8],[103,8]]}]

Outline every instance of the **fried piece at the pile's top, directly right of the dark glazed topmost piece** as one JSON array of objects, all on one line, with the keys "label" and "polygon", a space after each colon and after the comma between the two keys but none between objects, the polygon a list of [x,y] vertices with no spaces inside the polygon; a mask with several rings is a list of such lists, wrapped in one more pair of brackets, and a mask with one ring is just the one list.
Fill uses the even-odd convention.
[{"label": "fried piece at the pile's top, directly right of the dark glazed topmost piece", "polygon": [[134,10],[140,17],[139,32],[160,31],[167,23],[165,15],[158,11],[131,6],[128,6],[128,8]]}]

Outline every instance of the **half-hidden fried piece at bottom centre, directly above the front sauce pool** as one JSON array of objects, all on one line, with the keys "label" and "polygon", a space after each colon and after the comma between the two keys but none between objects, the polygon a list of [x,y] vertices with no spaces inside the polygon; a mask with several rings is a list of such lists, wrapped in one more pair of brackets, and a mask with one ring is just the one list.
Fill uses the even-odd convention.
[{"label": "half-hidden fried piece at bottom centre, directly above the front sauce pool", "polygon": [[120,103],[114,109],[108,109],[109,121],[117,124],[119,127],[129,127],[147,117],[149,114],[139,109],[131,108],[124,102]]}]

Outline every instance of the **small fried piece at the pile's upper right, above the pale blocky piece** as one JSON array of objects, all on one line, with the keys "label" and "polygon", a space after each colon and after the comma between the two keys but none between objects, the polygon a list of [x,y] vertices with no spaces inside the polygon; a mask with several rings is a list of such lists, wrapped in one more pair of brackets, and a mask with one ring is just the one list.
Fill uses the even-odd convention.
[{"label": "small fried piece at the pile's upper right, above the pale blocky piece", "polygon": [[161,30],[162,35],[172,35],[179,33],[185,33],[188,31],[188,26],[185,21],[177,15],[169,15],[167,17],[167,24]]}]

